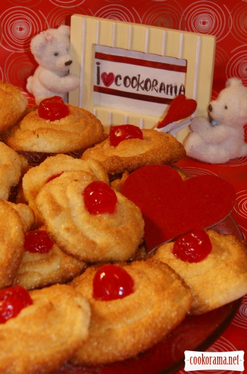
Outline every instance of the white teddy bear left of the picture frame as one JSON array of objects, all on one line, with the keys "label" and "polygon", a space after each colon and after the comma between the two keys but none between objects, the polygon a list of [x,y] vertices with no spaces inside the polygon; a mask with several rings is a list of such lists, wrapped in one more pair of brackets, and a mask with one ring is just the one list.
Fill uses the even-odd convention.
[{"label": "white teddy bear left of the picture frame", "polygon": [[61,25],[33,37],[30,44],[39,66],[27,80],[27,90],[38,105],[44,98],[61,96],[66,103],[68,92],[79,86],[79,77],[70,74],[70,26]]}]

